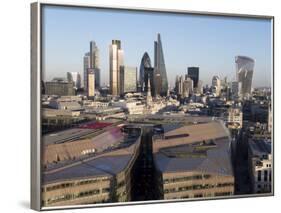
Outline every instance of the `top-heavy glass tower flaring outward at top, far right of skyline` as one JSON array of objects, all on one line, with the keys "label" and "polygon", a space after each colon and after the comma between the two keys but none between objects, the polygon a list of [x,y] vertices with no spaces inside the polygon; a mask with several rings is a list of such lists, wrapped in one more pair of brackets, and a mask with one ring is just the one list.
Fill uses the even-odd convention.
[{"label": "top-heavy glass tower flaring outward at top, far right of skyline", "polygon": [[235,63],[237,81],[241,84],[239,97],[243,98],[251,94],[255,60],[247,56],[236,56]]}]

